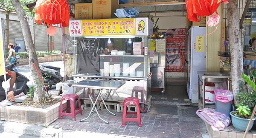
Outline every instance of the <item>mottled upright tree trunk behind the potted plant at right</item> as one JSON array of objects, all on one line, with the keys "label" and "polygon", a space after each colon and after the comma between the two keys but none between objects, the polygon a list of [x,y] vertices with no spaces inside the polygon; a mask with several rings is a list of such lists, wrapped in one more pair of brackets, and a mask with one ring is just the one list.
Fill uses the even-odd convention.
[{"label": "mottled upright tree trunk behind the potted plant at right", "polygon": [[228,2],[227,21],[231,56],[231,81],[235,103],[237,103],[236,94],[239,92],[239,82],[242,80],[241,74],[243,72],[243,51],[239,28],[238,0],[229,0]]}]

